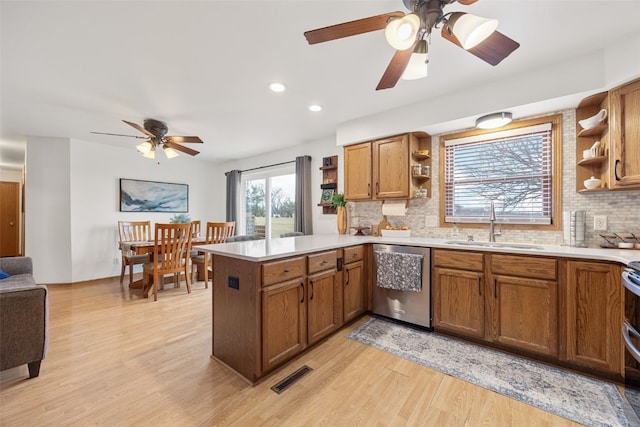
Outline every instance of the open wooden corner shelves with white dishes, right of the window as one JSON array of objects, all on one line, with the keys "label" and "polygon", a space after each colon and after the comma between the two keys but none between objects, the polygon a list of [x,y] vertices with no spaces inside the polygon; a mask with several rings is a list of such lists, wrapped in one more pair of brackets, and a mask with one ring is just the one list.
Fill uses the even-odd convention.
[{"label": "open wooden corner shelves with white dishes, right of the window", "polygon": [[[600,92],[584,98],[576,108],[576,192],[597,192],[609,189],[609,121],[601,120],[587,128],[580,124],[609,108],[609,93]],[[600,188],[588,190],[584,181],[602,181]]]}]

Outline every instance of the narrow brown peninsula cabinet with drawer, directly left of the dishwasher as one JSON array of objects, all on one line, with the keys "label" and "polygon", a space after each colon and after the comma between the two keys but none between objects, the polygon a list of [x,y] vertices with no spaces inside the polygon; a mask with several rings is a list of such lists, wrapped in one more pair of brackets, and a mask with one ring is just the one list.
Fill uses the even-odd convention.
[{"label": "narrow brown peninsula cabinet with drawer, directly left of the dishwasher", "polygon": [[350,322],[365,312],[364,245],[344,249],[343,320]]}]

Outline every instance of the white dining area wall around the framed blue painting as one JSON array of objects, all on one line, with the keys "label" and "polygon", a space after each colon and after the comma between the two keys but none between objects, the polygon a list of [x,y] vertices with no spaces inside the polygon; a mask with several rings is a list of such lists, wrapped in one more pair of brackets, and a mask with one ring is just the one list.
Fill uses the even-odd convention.
[{"label": "white dining area wall around the framed blue painting", "polygon": [[216,171],[187,156],[157,164],[133,147],[30,138],[26,255],[34,258],[36,280],[71,283],[119,275],[117,221],[169,222],[172,213],[119,212],[119,178],[188,184],[191,218],[222,220],[224,202],[220,209],[217,200],[224,195],[209,189]]}]

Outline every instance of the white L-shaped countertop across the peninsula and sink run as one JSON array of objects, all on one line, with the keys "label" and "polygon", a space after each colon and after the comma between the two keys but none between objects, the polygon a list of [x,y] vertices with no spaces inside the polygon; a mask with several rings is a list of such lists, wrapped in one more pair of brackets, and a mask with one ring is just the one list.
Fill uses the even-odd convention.
[{"label": "white L-shaped countertop across the peninsula and sink run", "polygon": [[[426,237],[375,237],[317,234],[300,237],[282,237],[270,240],[250,240],[245,242],[197,245],[197,248],[216,255],[224,255],[231,258],[239,258],[255,262],[365,243],[384,243],[430,248],[583,258],[590,260],[614,261],[624,265],[627,265],[630,261],[640,260],[640,250],[638,249],[576,248],[573,246],[529,245],[526,243],[509,243],[501,241],[495,242],[495,244],[490,244],[489,242],[483,241],[462,242],[461,240],[455,240],[455,242],[462,242],[460,244],[456,244],[451,243],[453,241],[453,239],[431,239]],[[195,246],[196,245],[194,245],[194,247]]]}]

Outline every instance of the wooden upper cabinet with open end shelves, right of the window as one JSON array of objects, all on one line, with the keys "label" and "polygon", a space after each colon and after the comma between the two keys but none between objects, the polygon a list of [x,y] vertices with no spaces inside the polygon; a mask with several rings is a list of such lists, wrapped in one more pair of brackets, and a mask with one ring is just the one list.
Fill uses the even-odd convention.
[{"label": "wooden upper cabinet with open end shelves, right of the window", "polygon": [[[602,110],[604,119],[582,126]],[[576,191],[640,189],[640,79],[583,99],[576,130]],[[590,177],[601,185],[587,190]]]}]

